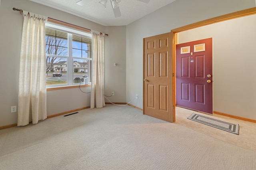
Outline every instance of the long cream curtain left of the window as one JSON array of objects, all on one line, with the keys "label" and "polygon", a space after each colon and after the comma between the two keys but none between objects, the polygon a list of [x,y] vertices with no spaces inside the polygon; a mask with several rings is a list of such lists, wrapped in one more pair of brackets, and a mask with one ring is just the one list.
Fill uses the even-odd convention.
[{"label": "long cream curtain left of the window", "polygon": [[[18,126],[46,119],[46,16],[23,11],[18,93]],[[31,118],[30,118],[31,114]]]}]

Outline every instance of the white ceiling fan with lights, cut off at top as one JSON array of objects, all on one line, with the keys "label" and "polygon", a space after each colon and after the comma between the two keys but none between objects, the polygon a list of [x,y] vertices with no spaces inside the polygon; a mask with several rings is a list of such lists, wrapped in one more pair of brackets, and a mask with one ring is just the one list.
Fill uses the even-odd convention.
[{"label": "white ceiling fan with lights, cut off at top", "polygon": [[[85,4],[91,2],[93,0],[80,0],[78,2],[76,2],[76,4],[80,5],[80,6],[84,6]],[[145,2],[148,3],[150,0],[138,0],[141,2]],[[108,0],[100,0],[99,3],[102,4],[105,8],[106,8],[106,4],[107,4]],[[121,16],[121,12],[120,12],[120,8],[119,8],[119,2],[121,2],[121,0],[110,0],[111,6],[113,8],[113,12],[115,17],[120,17]]]}]

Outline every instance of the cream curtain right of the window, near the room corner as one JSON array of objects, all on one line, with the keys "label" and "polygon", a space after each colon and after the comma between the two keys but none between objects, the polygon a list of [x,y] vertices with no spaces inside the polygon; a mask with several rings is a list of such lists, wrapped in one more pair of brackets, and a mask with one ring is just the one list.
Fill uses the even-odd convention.
[{"label": "cream curtain right of the window, near the room corner", "polygon": [[104,36],[100,32],[92,32],[92,90],[91,109],[102,108],[104,101]]}]

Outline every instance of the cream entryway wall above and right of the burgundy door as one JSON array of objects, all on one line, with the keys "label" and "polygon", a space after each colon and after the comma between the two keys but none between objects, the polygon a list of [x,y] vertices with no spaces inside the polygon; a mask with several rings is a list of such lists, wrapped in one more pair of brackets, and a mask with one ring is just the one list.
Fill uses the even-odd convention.
[{"label": "cream entryway wall above and right of the burgundy door", "polygon": [[256,120],[256,15],[188,30],[178,42],[212,37],[213,110]]}]

